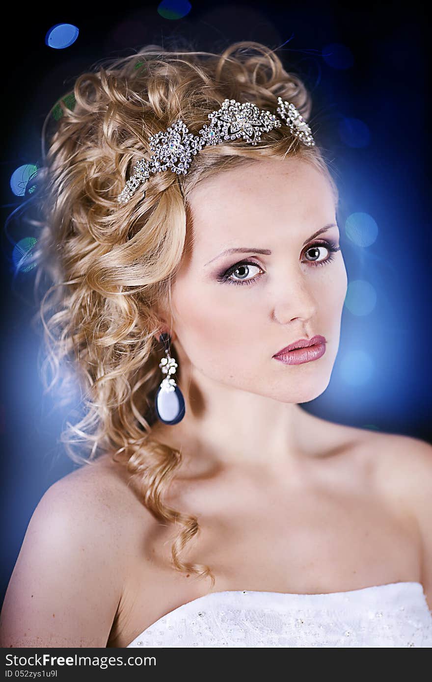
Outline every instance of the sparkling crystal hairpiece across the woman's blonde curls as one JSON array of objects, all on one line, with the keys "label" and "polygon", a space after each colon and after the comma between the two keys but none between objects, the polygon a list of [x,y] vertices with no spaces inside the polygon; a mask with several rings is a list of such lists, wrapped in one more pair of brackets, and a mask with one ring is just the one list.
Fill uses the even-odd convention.
[{"label": "sparkling crystal hairpiece across the woman's blonde curls", "polygon": [[[299,140],[313,147],[315,145],[311,128],[309,128],[298,109],[290,102],[284,102],[278,97],[276,112],[285,121],[291,132]],[[188,131],[182,120],[177,120],[165,132],[158,132],[149,136],[150,149],[153,154],[149,160],[141,159],[133,168],[132,175],[126,186],[117,197],[120,204],[126,203],[136,189],[147,181],[150,175],[162,170],[186,175],[192,155],[206,145],[218,145],[225,140],[235,140],[242,137],[251,145],[261,141],[261,134],[282,125],[279,118],[270,111],[259,109],[252,102],[235,102],[224,100],[220,109],[208,115],[210,125],[203,125],[197,135]],[[143,198],[145,197],[145,192]]]}]

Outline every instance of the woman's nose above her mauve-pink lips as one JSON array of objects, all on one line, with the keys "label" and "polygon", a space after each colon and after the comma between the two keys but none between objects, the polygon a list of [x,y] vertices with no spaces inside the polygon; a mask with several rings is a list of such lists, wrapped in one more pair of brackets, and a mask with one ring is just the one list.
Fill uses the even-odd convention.
[{"label": "woman's nose above her mauve-pink lips", "polygon": [[297,273],[284,281],[282,289],[274,295],[273,318],[280,324],[292,320],[308,320],[318,310],[316,292],[302,273]]}]

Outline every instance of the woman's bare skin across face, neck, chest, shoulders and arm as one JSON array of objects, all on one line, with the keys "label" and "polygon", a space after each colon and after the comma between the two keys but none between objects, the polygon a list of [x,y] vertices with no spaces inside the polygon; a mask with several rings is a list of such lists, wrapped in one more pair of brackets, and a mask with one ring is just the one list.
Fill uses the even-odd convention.
[{"label": "woman's bare skin across face, neck, chest, shoulders and arm", "polygon": [[[432,447],[300,406],[328,386],[347,290],[340,250],[312,264],[328,258],[317,244],[339,246],[337,225],[311,239],[337,222],[327,179],[304,161],[263,160],[203,181],[189,203],[173,309],[160,311],[186,416],[154,434],[184,456],[164,498],[199,520],[184,559],[209,565],[216,584],[171,568],[178,528],[160,524],[104,455],[36,507],[3,604],[2,647],[126,647],[209,591],[412,580],[432,608]],[[244,246],[253,250],[216,258]],[[231,279],[253,283],[219,281],[231,266]],[[315,334],[327,340],[321,358],[272,357]]]}]

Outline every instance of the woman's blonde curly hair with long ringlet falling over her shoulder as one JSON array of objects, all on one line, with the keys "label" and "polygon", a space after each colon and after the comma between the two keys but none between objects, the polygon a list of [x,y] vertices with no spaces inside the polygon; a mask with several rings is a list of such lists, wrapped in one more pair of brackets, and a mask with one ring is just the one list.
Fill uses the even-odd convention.
[{"label": "woman's blonde curly hair with long ringlet falling over her shoulder", "polygon": [[[302,80],[257,42],[235,42],[220,54],[148,45],[106,60],[79,76],[73,93],[57,104],[46,151],[44,131],[53,110],[48,114],[31,198],[40,215],[35,287],[44,276],[51,284],[37,315],[44,336],[42,381],[48,392],[61,379],[63,394],[68,382],[78,381],[85,406],[83,418],[68,422],[60,440],[77,464],[108,453],[126,466],[143,504],[158,520],[180,527],[171,547],[173,567],[210,576],[212,584],[210,567],[181,558],[199,531],[197,517],[163,500],[182,454],[152,438],[163,354],[157,310],[169,310],[182,263],[188,194],[222,170],[287,155],[325,173],[337,201],[336,185],[319,147],[306,147],[282,126],[254,147],[242,138],[205,147],[187,175],[153,176],[145,200],[141,188],[124,205],[117,195],[134,164],[151,155],[149,135],[179,118],[196,133],[225,98],[275,111],[278,95],[313,123]],[[71,100],[74,106],[66,106]],[[181,368],[177,380],[181,385]]]}]

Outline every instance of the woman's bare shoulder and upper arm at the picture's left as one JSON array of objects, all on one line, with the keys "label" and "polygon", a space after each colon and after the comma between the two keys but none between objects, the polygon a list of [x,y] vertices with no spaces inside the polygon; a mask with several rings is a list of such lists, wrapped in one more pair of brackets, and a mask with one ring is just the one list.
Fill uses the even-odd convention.
[{"label": "woman's bare shoulder and upper arm at the picture's left", "polygon": [[124,591],[138,501],[107,460],[53,484],[29,521],[6,591],[1,646],[106,647]]}]

